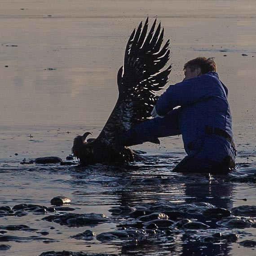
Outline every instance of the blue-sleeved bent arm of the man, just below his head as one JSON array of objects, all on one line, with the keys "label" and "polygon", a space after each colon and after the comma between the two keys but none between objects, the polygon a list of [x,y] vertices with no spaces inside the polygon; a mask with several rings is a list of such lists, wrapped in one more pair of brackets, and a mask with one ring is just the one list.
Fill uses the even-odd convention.
[{"label": "blue-sleeved bent arm of the man, just below his head", "polygon": [[189,106],[216,94],[221,90],[216,86],[217,80],[209,75],[184,80],[178,84],[170,85],[159,97],[155,110],[158,115],[166,115],[176,106]]}]

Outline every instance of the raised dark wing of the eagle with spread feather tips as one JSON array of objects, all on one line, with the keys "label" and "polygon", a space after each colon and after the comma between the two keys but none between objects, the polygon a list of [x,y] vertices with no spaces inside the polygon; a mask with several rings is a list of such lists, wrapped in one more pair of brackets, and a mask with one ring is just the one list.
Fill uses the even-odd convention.
[{"label": "raised dark wing of the eagle with spread feather tips", "polygon": [[117,75],[119,97],[98,140],[111,144],[125,132],[150,117],[157,101],[155,92],[168,81],[171,66],[164,69],[169,57],[169,40],[162,46],[164,29],[157,20],[148,32],[148,18],[132,32],[124,53],[124,66]]}]

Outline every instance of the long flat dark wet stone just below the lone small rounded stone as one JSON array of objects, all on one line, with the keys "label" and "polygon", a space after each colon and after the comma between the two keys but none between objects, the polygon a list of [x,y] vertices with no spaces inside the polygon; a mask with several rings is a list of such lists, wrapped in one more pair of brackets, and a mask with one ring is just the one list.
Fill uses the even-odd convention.
[{"label": "long flat dark wet stone just below the lone small rounded stone", "polygon": [[109,221],[103,214],[97,213],[64,213],[61,215],[50,215],[43,218],[44,221],[53,221],[60,225],[85,226],[97,225]]}]

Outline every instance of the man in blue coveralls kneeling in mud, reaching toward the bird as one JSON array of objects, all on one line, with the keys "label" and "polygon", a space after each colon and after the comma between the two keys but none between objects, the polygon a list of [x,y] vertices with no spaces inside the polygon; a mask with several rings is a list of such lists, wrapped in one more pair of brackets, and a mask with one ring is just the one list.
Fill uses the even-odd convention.
[{"label": "man in blue coveralls kneeling in mud, reaching toward the bird", "polygon": [[185,63],[184,75],[159,97],[151,112],[154,118],[124,132],[118,141],[132,146],[181,134],[187,156],[174,172],[226,174],[235,167],[236,156],[228,89],[212,58]]}]

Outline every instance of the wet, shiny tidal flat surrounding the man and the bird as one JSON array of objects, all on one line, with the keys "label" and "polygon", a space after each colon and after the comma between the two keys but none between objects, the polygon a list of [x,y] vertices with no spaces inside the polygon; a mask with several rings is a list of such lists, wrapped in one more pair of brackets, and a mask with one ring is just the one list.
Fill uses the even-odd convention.
[{"label": "wet, shiny tidal flat surrounding the man and the bird", "polygon": [[[256,205],[255,13],[253,0],[2,0],[0,207],[7,208],[0,212],[0,253],[34,256],[66,250],[131,255],[132,248],[141,255],[157,255],[159,251],[161,255],[192,255],[189,253],[198,248],[202,255],[254,255],[253,242],[242,242],[256,241],[252,210]],[[117,99],[116,73],[122,66],[128,37],[147,16],[150,24],[157,17],[165,40],[171,40],[172,71],[167,86],[183,78],[183,64],[189,59],[215,57],[218,74],[229,88],[237,170],[214,179],[172,173],[184,156],[181,137],[162,139],[160,146],[146,143],[134,147],[145,150],[147,159],[127,167],[21,165],[23,159],[44,156],[65,159],[77,134],[89,131],[97,136]],[[53,213],[40,212],[43,210],[36,207],[48,209],[50,200],[58,195],[71,199],[69,206],[75,208],[75,214],[91,216],[95,212],[106,215],[109,221],[69,226],[43,220]],[[17,214],[13,207],[22,203],[34,206]],[[232,220],[207,222],[203,212],[212,207],[199,203],[225,208],[233,214]],[[120,206],[126,211],[115,208]],[[234,211],[240,206],[249,213]],[[155,212],[161,210],[166,215],[170,212],[166,207],[176,212],[179,207],[185,215],[172,218],[169,214],[170,221],[191,218],[210,228],[199,228],[195,223],[198,235],[185,228],[175,231],[175,227],[168,227],[160,229],[165,233],[157,231],[154,235],[140,231],[139,239],[132,239],[132,232],[129,237],[128,231],[118,231],[145,228],[129,207],[137,214],[141,209],[151,214],[155,207]],[[65,208],[54,214],[71,216]],[[238,226],[241,220],[234,221],[240,217],[243,228]],[[230,221],[237,225],[231,228]],[[10,225],[21,228],[12,230]],[[154,230],[154,225],[150,227]],[[90,239],[72,237],[93,232],[96,235]],[[226,237],[223,241],[216,234],[221,232]],[[209,246],[207,241],[213,242]]]}]

